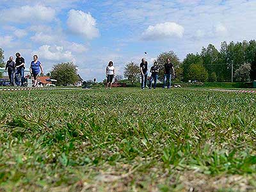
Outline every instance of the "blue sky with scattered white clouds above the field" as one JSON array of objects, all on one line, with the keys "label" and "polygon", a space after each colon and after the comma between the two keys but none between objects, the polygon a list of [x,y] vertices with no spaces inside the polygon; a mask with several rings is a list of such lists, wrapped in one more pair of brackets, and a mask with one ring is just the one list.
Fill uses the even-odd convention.
[{"label": "blue sky with scattered white clouds above the field", "polygon": [[255,39],[255,10],[256,0],[1,0],[0,47],[6,60],[19,51],[29,67],[38,54],[45,72],[74,61],[84,80],[102,81],[109,60],[122,75],[125,63],[151,65],[164,51],[182,61],[208,44]]}]

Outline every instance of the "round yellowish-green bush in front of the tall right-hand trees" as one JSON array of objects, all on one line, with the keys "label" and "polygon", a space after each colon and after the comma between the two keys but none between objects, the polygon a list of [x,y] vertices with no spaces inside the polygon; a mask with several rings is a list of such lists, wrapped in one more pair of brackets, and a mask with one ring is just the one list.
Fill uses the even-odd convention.
[{"label": "round yellowish-green bush in front of the tall right-hand trees", "polygon": [[192,81],[205,82],[208,79],[208,72],[203,65],[192,64],[189,66],[188,77]]}]

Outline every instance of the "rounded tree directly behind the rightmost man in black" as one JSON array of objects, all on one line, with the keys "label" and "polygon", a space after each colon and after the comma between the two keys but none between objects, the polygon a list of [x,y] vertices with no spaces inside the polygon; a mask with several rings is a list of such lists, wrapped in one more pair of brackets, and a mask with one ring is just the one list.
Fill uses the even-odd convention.
[{"label": "rounded tree directly behind the rightmost man in black", "polygon": [[[174,65],[174,69],[176,72],[179,72],[176,74],[176,76],[181,80],[183,79],[183,70],[179,69],[181,67],[180,60],[173,51],[169,52],[162,52],[157,56],[157,65],[159,67],[159,79],[163,80],[163,74],[164,74],[164,64],[166,63],[167,58],[170,59],[171,63]],[[182,72],[182,73],[180,73]]]}]

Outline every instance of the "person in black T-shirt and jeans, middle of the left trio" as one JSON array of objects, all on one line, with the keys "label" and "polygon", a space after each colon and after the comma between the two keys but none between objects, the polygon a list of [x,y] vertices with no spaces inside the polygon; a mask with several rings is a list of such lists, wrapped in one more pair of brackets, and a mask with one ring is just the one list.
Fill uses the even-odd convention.
[{"label": "person in black T-shirt and jeans, middle of the left trio", "polygon": [[[24,78],[24,70],[25,70],[25,60],[20,56],[20,53],[17,52],[16,56],[16,72],[15,72],[15,84],[20,86],[20,79],[21,79],[21,86],[24,86],[25,78]],[[20,76],[20,77],[19,77]]]}]

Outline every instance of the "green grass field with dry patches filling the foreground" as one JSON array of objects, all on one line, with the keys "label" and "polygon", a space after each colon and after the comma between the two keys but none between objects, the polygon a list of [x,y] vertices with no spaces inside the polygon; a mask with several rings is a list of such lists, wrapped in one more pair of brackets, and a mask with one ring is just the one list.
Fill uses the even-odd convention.
[{"label": "green grass field with dry patches filling the foreground", "polygon": [[256,95],[0,93],[0,191],[256,191]]}]

